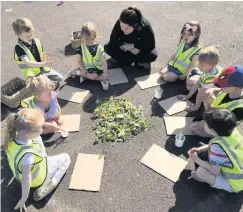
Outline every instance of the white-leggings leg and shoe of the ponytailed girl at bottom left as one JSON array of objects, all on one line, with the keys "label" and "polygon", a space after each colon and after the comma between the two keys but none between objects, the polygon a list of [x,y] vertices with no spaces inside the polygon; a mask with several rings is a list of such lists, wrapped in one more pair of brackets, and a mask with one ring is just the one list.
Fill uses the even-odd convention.
[{"label": "white-leggings leg and shoe of the ponytailed girl at bottom left", "polygon": [[47,157],[47,177],[41,187],[35,190],[33,194],[35,201],[43,199],[57,187],[66,173],[70,162],[70,156],[66,153]]}]

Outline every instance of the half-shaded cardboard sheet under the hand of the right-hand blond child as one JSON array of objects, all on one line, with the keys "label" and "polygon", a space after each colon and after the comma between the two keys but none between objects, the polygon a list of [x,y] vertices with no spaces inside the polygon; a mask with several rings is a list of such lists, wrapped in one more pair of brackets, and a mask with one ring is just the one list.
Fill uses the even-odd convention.
[{"label": "half-shaded cardboard sheet under the hand of the right-hand blond child", "polygon": [[169,115],[186,110],[192,104],[190,101],[182,101],[178,99],[177,96],[162,100],[158,103]]}]

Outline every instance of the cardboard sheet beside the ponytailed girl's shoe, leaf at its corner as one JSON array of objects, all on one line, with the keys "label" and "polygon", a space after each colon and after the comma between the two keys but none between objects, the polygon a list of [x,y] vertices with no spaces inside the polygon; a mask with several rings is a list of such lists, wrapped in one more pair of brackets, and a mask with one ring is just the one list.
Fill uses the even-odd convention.
[{"label": "cardboard sheet beside the ponytailed girl's shoe, leaf at its corner", "polygon": [[103,155],[78,154],[69,189],[99,191],[104,168]]}]

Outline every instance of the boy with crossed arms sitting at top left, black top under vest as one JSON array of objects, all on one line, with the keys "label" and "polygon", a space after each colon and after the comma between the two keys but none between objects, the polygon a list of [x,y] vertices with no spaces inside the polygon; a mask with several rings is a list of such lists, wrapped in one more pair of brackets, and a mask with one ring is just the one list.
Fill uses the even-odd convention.
[{"label": "boy with crossed arms sitting at top left, black top under vest", "polygon": [[24,78],[33,73],[34,76],[46,75],[55,82],[61,82],[62,75],[48,67],[52,65],[52,61],[47,61],[40,40],[34,38],[31,21],[27,18],[17,18],[12,23],[12,28],[18,37],[14,59]]}]

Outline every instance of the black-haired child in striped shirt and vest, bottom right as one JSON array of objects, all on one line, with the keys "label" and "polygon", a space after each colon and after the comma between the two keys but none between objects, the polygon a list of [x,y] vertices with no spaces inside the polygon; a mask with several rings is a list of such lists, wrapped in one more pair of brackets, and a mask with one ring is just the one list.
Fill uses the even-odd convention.
[{"label": "black-haired child in striped shirt and vest, bottom right", "polygon": [[[235,128],[235,115],[227,109],[212,108],[204,113],[204,121],[205,130],[214,138],[209,145],[188,151],[199,165],[191,172],[192,178],[228,192],[243,191],[243,136]],[[209,162],[198,157],[202,151],[208,151]]]}]

